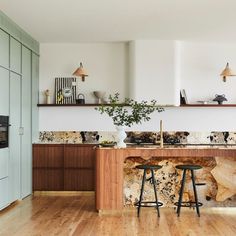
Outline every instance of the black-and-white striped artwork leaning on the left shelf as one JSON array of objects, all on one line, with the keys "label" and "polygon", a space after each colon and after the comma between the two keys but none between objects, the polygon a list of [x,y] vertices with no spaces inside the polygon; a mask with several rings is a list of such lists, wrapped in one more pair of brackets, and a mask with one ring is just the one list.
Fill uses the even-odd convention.
[{"label": "black-and-white striped artwork leaning on the left shelf", "polygon": [[76,78],[55,78],[55,103],[73,104],[76,99]]}]

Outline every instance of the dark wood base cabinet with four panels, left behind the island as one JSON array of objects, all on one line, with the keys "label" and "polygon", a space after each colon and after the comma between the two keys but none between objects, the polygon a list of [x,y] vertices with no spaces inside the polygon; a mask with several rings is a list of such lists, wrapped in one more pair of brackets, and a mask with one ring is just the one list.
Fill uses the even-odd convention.
[{"label": "dark wood base cabinet with four panels, left behind the island", "polygon": [[94,189],[94,145],[33,145],[34,191],[94,191]]}]

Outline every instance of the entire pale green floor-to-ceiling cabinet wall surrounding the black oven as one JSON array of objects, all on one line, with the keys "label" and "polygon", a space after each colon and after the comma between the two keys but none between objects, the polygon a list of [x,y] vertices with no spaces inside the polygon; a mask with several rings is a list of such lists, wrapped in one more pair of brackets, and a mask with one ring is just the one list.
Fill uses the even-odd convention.
[{"label": "entire pale green floor-to-ceiling cabinet wall surrounding the black oven", "polygon": [[37,41],[0,11],[0,114],[9,148],[0,149],[0,210],[32,193],[32,133],[38,137]]}]

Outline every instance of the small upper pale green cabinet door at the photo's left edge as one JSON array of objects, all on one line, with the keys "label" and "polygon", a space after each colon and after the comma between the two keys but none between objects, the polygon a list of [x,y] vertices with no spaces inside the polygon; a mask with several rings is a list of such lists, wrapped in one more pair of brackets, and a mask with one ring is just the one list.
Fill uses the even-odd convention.
[{"label": "small upper pale green cabinet door at the photo's left edge", "polygon": [[0,66],[9,68],[9,34],[0,29]]}]

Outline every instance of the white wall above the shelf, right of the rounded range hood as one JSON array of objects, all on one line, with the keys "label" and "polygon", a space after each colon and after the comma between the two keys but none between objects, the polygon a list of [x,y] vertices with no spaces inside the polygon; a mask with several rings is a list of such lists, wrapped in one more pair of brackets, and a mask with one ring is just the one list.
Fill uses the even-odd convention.
[{"label": "white wall above the shelf, right of the rounded range hood", "polygon": [[227,62],[236,72],[236,44],[182,42],[180,47],[181,87],[189,102],[225,94],[227,103],[236,104],[236,77],[224,83],[220,76]]}]

